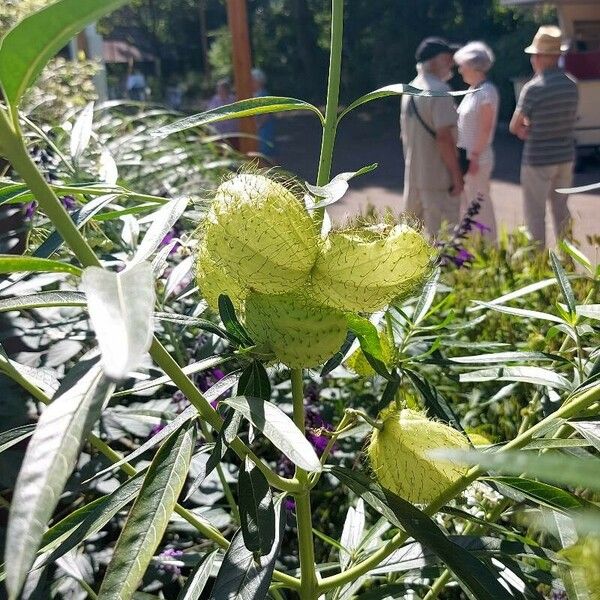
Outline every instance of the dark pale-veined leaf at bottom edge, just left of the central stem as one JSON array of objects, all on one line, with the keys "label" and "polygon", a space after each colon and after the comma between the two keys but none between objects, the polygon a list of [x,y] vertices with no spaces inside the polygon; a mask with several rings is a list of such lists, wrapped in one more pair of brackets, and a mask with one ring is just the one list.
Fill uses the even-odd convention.
[{"label": "dark pale-veined leaf at bottom edge, just left of the central stem", "polygon": [[280,503],[275,513],[276,535],[269,554],[256,560],[244,546],[242,531],[238,530],[223,558],[209,600],[263,600],[267,596],[285,529],[285,514]]}]

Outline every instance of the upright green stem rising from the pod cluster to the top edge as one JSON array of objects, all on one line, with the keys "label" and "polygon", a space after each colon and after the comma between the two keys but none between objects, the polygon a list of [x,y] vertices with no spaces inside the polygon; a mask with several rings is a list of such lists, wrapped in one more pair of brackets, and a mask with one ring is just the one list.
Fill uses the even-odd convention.
[{"label": "upright green stem rising from the pod cluster to the top edge", "polygon": [[[317,172],[317,185],[325,185],[331,177],[331,162],[337,129],[340,74],[342,67],[342,39],[344,35],[344,0],[331,1],[331,42],[329,55],[329,78],[327,80],[327,104],[325,124],[321,138],[321,156]],[[322,212],[322,211],[321,211]]]}]

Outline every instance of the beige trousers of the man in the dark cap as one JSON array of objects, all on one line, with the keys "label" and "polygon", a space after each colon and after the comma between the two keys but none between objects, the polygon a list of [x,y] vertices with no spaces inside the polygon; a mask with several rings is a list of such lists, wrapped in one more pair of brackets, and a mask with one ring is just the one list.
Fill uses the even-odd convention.
[{"label": "beige trousers of the man in the dark cap", "polygon": [[405,184],[404,211],[423,221],[427,233],[436,237],[442,223],[454,227],[460,215],[460,196],[444,190],[423,190]]}]

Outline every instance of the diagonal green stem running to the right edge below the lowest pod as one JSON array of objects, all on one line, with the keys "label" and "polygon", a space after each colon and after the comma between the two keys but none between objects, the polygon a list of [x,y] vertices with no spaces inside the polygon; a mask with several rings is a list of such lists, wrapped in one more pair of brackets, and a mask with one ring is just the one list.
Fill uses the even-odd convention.
[{"label": "diagonal green stem running to the right edge below the lowest pod", "polygon": [[[600,400],[600,385],[593,387],[590,390],[566,400],[562,407],[555,413],[552,413],[527,431],[518,435],[514,440],[503,446],[498,452],[507,452],[509,450],[518,450],[526,446],[535,435],[544,430],[550,423],[558,419],[568,419],[578,415],[594,402]],[[466,475],[458,481],[446,488],[431,504],[429,504],[424,512],[428,515],[434,515],[440,508],[446,505],[454,497],[458,496],[465,488],[467,488],[475,479],[485,472],[481,467],[472,467]],[[319,584],[319,593],[324,593],[328,590],[341,587],[350,581],[354,581],[374,569],[379,563],[385,560],[394,550],[397,550],[406,540],[408,536],[405,532],[398,532],[391,540],[389,540],[379,550],[371,554],[369,558],[351,567],[343,573],[326,577]]]}]

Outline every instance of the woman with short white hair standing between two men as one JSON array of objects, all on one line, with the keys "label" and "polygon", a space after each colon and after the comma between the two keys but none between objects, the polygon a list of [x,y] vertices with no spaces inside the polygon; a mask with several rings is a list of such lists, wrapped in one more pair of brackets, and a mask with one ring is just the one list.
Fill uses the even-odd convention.
[{"label": "woman with short white hair standing between two men", "polygon": [[469,204],[481,198],[475,225],[482,234],[495,240],[496,219],[490,197],[490,178],[494,169],[492,143],[500,98],[496,86],[487,78],[494,64],[494,53],[483,42],[470,42],[454,54],[454,62],[469,90],[476,90],[464,96],[458,107],[457,145],[466,150],[469,161],[460,212],[466,213]]}]

